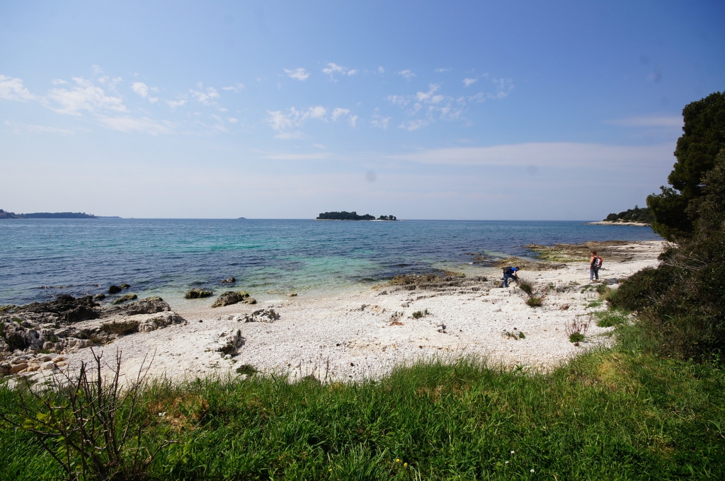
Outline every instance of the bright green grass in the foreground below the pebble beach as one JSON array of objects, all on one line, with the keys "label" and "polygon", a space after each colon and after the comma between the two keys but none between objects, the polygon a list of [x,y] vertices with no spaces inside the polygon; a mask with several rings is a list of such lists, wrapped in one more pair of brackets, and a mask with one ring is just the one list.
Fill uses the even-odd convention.
[{"label": "bright green grass in the foreground below the pebble beach", "polygon": [[[378,382],[272,377],[157,382],[143,394],[155,479],[725,479],[725,373],[617,346],[545,375],[479,361]],[[9,412],[17,393],[0,388]],[[159,413],[165,413],[159,416]],[[25,432],[0,430],[0,480],[63,477]]]}]

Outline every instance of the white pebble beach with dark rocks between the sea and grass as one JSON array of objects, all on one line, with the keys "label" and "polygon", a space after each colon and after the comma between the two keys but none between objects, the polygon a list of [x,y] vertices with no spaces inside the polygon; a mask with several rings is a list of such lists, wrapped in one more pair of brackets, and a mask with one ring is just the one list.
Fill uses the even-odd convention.
[{"label": "white pebble beach with dark rocks between the sea and grass", "polygon": [[[486,356],[544,368],[609,342],[610,328],[590,325],[575,346],[566,326],[591,323],[605,309],[597,301],[603,286],[657,265],[664,243],[597,243],[605,267],[602,280],[589,283],[583,253],[594,246],[530,246],[542,259],[483,259],[468,275],[398,276],[372,289],[321,297],[280,294],[257,303],[244,291],[228,291],[217,307],[198,298],[174,310],[161,298],[100,306],[91,297],[59,296],[7,306],[0,311],[0,369],[40,382],[89,361],[87,347],[121,351],[130,373],[152,356],[150,375],[182,379],[237,375],[239,366],[291,380],[362,379],[431,356]],[[502,288],[496,267],[502,263],[523,266],[526,285]]]}]

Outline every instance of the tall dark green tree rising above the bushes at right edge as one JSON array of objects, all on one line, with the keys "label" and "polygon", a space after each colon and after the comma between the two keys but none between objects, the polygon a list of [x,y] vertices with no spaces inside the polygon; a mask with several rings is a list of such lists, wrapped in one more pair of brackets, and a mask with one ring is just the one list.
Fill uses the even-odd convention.
[{"label": "tall dark green tree rising above the bushes at right edge", "polygon": [[677,162],[667,177],[671,187],[647,197],[655,217],[653,230],[670,241],[692,235],[698,209],[689,208],[690,203],[703,196],[703,176],[715,167],[725,147],[725,93],[687,104],[682,117],[684,134],[677,140]]}]

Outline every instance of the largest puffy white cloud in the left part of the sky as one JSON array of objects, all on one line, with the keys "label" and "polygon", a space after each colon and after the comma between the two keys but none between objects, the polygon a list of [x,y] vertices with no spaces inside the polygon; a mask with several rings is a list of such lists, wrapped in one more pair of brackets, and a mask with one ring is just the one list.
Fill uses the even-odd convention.
[{"label": "largest puffy white cloud in the left part of the sky", "polygon": [[81,115],[81,111],[97,113],[101,110],[114,110],[127,112],[123,99],[107,96],[103,89],[94,85],[91,80],[74,77],[76,87],[72,90],[53,88],[49,91],[47,99],[54,101],[57,106],[50,106],[55,112],[69,115]]}]

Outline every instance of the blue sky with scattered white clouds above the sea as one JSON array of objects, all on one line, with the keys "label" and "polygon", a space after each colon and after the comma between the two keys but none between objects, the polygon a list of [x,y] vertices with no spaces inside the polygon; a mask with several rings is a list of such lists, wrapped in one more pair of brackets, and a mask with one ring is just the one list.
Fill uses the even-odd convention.
[{"label": "blue sky with scattered white clouds above the sea", "polygon": [[725,4],[0,4],[0,208],[601,219],[725,87]]}]

